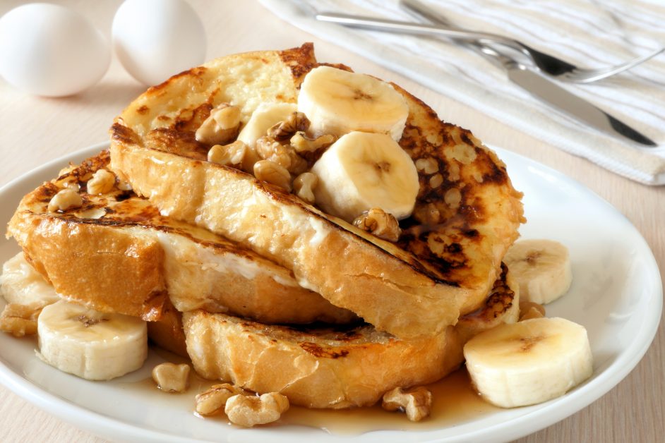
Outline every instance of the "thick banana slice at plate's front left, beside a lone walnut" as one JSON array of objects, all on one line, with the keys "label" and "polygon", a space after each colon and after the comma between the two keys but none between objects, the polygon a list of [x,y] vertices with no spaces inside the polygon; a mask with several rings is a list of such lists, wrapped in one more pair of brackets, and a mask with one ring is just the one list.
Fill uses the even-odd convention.
[{"label": "thick banana slice at plate's front left, beside a lone walnut", "polygon": [[37,320],[41,358],[87,380],[111,380],[137,370],[148,356],[143,320],[105,314],[64,300]]}]

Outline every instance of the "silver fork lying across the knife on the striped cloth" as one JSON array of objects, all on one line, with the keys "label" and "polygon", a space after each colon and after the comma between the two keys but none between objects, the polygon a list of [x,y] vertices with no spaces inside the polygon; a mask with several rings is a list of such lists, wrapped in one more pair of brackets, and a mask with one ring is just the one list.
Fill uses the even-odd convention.
[{"label": "silver fork lying across the knife on the striped cloth", "polygon": [[[443,20],[445,20],[439,14],[436,14],[436,18],[433,19],[435,16],[433,11],[424,12],[425,7],[417,4],[412,0],[402,0],[400,1],[400,4],[404,5],[412,11],[417,11],[419,15],[426,17],[428,20],[434,20],[438,23],[443,23]],[[661,48],[652,52],[651,54],[638,57],[637,59],[633,59],[616,66],[587,69],[578,68],[572,63],[568,63],[567,61],[558,59],[555,56],[545,54],[544,52],[538,51],[537,49],[534,49],[533,47],[530,47],[529,45],[522,43],[519,40],[511,39],[504,37],[503,35],[493,34],[490,32],[469,31],[462,30],[460,28],[453,28],[452,26],[409,23],[397,20],[383,20],[380,18],[352,16],[349,14],[340,13],[318,13],[316,14],[316,19],[325,22],[340,23],[342,25],[351,26],[353,28],[388,32],[397,31],[415,35],[440,35],[442,37],[448,37],[452,40],[462,40],[469,43],[477,42],[482,44],[501,44],[505,47],[510,47],[511,49],[515,49],[522,52],[522,54],[529,56],[541,72],[560,80],[567,80],[575,83],[592,83],[596,80],[601,80],[601,78],[610,77],[611,75],[615,75],[633,68],[665,51],[665,48]],[[445,21],[446,23],[448,22],[448,20]]]}]

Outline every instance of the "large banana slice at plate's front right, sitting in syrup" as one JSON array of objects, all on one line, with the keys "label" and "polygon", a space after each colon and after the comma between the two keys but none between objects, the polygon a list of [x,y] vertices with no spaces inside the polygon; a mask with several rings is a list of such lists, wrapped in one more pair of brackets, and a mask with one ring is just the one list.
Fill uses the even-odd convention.
[{"label": "large banana slice at plate's front right, sitting in syrup", "polygon": [[502,408],[562,396],[593,372],[587,330],[563,318],[501,324],[471,339],[464,356],[480,394]]}]

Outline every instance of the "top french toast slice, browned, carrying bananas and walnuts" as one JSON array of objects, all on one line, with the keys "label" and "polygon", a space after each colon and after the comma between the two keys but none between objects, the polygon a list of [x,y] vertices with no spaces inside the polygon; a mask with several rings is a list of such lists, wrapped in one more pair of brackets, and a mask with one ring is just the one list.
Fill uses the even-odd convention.
[{"label": "top french toast slice, browned, carrying bananas and walnuts", "polygon": [[304,44],[227,56],[175,75],[116,118],[111,167],[162,214],[292,269],[301,286],[377,329],[405,339],[443,332],[482,305],[524,221],[505,164],[472,133],[393,85],[409,108],[400,146],[414,162],[433,159],[438,171],[436,180],[419,171],[415,209],[400,222],[396,243],[208,162],[210,146],[196,141],[196,129],[219,104],[239,107],[246,123],[261,103],[296,102],[316,66],[312,45]]}]

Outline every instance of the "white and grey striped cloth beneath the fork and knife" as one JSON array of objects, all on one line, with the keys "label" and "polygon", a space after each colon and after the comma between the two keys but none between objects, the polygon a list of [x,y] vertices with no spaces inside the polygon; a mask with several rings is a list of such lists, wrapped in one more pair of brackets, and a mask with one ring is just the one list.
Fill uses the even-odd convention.
[{"label": "white and grey striped cloth beneath the fork and knife", "polygon": [[[315,11],[414,19],[397,0],[260,0],[277,16],[464,102],[561,150],[649,185],[665,184],[665,54],[628,73],[560,85],[647,135],[639,147],[554,111],[473,51],[443,39],[345,28]],[[522,40],[578,66],[608,66],[665,45],[663,0],[422,0],[455,25]],[[454,123],[454,122],[453,122]]]}]

